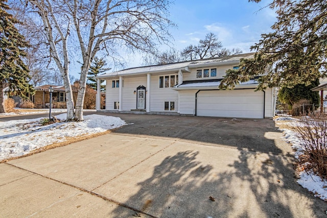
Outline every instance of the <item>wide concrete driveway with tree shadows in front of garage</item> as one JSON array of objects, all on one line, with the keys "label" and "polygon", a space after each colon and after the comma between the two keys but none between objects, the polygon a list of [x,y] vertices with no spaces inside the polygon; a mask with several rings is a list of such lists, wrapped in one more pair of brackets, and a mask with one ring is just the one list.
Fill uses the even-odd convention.
[{"label": "wide concrete driveway with tree shadows in front of garage", "polygon": [[105,115],[130,125],[0,164],[0,216],[326,217],[271,119]]}]

